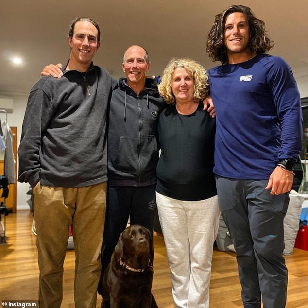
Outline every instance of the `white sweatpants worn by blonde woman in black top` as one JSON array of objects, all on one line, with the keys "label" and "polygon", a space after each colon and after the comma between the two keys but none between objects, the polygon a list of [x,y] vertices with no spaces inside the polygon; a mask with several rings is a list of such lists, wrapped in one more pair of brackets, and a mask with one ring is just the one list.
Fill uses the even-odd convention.
[{"label": "white sweatpants worn by blonde woman in black top", "polygon": [[159,221],[178,308],[208,308],[209,284],[220,209],[217,196],[182,201],[156,192]]}]

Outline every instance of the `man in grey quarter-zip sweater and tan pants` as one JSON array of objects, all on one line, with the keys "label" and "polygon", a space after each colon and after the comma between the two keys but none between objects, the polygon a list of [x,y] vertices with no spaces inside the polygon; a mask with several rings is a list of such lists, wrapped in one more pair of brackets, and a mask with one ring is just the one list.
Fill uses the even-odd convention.
[{"label": "man in grey quarter-zip sweater and tan pants", "polygon": [[69,226],[76,252],[75,307],[95,308],[106,209],[106,118],[111,76],[94,66],[100,29],[71,24],[63,78],[42,77],[31,89],[18,149],[20,182],[34,193],[41,308],[62,302]]}]

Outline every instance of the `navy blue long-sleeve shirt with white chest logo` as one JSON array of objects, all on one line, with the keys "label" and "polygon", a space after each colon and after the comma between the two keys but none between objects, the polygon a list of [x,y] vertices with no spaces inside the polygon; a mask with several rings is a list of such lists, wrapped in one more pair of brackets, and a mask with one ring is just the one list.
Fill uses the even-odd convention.
[{"label": "navy blue long-sleeve shirt with white chest logo", "polygon": [[279,160],[296,160],[302,145],[300,95],[282,58],[259,54],[212,68],[209,77],[217,175],[264,180]]}]

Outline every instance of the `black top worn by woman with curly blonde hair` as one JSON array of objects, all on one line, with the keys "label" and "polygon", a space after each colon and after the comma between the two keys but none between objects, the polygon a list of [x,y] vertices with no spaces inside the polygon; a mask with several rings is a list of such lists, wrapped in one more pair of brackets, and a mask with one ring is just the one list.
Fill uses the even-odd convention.
[{"label": "black top worn by woman with curly blonde hair", "polygon": [[178,200],[203,200],[217,194],[214,167],[216,123],[199,103],[191,115],[169,105],[160,115],[161,155],[157,192]]}]

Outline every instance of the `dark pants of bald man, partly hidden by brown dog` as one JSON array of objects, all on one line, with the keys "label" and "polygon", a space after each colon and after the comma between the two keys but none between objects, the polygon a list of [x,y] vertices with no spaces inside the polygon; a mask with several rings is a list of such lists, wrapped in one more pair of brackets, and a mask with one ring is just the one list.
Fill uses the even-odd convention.
[{"label": "dark pants of bald man, partly hidden by brown dog", "polygon": [[102,274],[98,286],[99,294],[102,294],[104,270],[110,262],[121,232],[126,228],[128,218],[131,225],[140,224],[148,228],[153,238],[156,209],[155,188],[155,184],[140,187],[107,186],[107,208],[101,254]]}]

